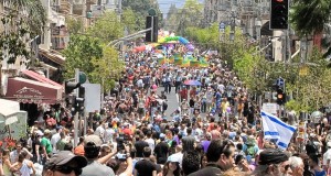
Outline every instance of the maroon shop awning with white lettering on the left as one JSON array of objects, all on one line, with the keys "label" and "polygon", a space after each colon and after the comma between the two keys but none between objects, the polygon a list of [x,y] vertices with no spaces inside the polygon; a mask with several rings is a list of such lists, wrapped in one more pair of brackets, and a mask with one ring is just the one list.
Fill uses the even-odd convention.
[{"label": "maroon shop awning with white lettering on the left", "polygon": [[61,101],[62,87],[20,77],[9,78],[4,98],[23,103],[53,105]]}]

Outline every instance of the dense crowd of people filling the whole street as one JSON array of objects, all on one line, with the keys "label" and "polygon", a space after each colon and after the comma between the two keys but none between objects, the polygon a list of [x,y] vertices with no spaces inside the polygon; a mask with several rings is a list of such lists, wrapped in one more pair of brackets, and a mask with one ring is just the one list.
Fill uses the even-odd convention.
[{"label": "dense crowd of people filling the whole street", "polygon": [[[236,74],[226,62],[213,57],[209,62],[206,68],[181,68],[158,65],[149,52],[129,55],[104,108],[89,114],[89,128],[79,133],[77,146],[71,112],[53,109],[35,121],[28,140],[12,151],[2,150],[0,175],[330,174],[328,119],[308,125],[305,151],[296,138],[281,151],[275,141],[264,139],[259,107]],[[171,94],[179,102],[168,100]],[[178,108],[167,114],[170,103]]]}]

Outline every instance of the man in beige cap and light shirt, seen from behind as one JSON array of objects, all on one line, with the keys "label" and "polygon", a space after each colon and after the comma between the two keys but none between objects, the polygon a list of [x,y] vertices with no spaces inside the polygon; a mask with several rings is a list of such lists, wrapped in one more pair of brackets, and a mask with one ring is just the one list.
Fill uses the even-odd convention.
[{"label": "man in beige cap and light shirt, seen from behind", "polygon": [[88,164],[86,167],[83,168],[82,176],[100,176],[100,175],[115,176],[114,170],[110,167],[103,165],[102,163],[104,162],[98,161],[98,155],[102,145],[103,145],[103,141],[98,135],[92,134],[85,136],[84,152],[85,152],[85,157],[88,161]]}]

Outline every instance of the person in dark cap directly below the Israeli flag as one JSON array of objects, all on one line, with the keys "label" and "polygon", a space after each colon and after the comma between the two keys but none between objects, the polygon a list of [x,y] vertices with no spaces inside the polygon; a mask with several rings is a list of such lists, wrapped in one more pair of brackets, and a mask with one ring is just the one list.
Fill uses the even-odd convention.
[{"label": "person in dark cap directly below the Israeli flag", "polygon": [[288,173],[291,173],[291,168],[289,166],[289,157],[285,152],[276,148],[267,148],[260,152],[258,166],[253,172],[253,175],[286,175]]}]

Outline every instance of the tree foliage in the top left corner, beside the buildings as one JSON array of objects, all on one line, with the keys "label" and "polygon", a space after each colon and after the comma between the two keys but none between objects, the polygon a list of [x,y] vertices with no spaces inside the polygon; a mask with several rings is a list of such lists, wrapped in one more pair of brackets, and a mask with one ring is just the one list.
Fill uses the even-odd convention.
[{"label": "tree foliage in the top left corner, beside the buildings", "polygon": [[0,34],[0,61],[7,59],[8,64],[13,64],[18,57],[30,59],[31,52],[26,47],[28,42],[42,34],[46,21],[41,1],[1,0],[0,2],[7,7],[1,18],[4,31]]}]

